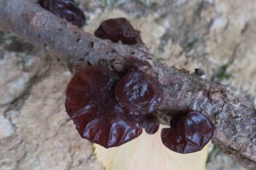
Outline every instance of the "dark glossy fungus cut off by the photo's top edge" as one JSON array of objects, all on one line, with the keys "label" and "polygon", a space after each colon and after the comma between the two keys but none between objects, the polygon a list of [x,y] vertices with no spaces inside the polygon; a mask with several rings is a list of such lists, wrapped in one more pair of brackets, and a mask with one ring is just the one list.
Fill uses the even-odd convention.
[{"label": "dark glossy fungus cut off by the photo's top edge", "polygon": [[75,26],[83,26],[85,16],[73,0],[40,0],[39,3],[55,15],[73,23]]}]

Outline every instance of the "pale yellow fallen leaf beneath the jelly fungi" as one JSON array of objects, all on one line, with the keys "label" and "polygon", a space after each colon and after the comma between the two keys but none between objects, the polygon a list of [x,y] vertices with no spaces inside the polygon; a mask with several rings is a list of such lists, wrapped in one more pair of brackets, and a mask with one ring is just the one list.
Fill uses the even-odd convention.
[{"label": "pale yellow fallen leaf beneath the jelly fungi", "polygon": [[205,170],[208,145],[192,154],[168,150],[160,140],[160,130],[154,135],[145,132],[119,147],[105,149],[94,144],[98,161],[106,170]]}]

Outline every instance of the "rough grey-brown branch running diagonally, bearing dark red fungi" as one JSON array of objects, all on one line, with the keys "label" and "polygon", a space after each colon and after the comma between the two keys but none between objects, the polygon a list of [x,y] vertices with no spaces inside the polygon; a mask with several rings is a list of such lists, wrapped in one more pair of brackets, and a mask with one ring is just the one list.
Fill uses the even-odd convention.
[{"label": "rough grey-brown branch running diagonally, bearing dark red fungi", "polygon": [[200,111],[214,124],[212,142],[243,166],[256,168],[255,108],[224,85],[161,64],[143,45],[128,46],[93,37],[32,0],[1,0],[0,29],[12,31],[56,56],[73,72],[87,65],[119,71],[131,56],[147,60],[164,90],[163,102],[155,112],[162,124],[168,124],[177,111]]}]

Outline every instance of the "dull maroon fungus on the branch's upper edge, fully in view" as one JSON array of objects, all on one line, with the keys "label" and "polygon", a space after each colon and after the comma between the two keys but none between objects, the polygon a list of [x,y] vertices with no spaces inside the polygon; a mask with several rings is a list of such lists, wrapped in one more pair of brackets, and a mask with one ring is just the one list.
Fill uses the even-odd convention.
[{"label": "dull maroon fungus on the branch's upper edge, fully in view", "polygon": [[104,20],[94,34],[96,37],[109,39],[113,42],[143,43],[140,31],[135,30],[125,18]]}]

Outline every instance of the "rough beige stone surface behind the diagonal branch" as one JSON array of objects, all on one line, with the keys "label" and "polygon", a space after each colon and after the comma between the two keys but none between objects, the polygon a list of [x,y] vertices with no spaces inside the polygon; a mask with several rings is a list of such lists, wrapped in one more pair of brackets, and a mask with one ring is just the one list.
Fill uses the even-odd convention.
[{"label": "rough beige stone surface behind the diagonal branch", "polygon": [[[255,0],[77,1],[93,33],[102,20],[126,17],[162,62],[205,71],[256,105]],[[1,4],[0,4],[1,5]],[[55,56],[0,32],[0,169],[102,170],[90,142],[65,112],[72,77]],[[244,169],[215,147],[208,170]]]}]

